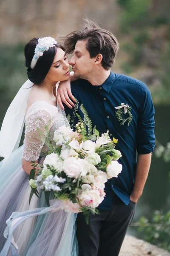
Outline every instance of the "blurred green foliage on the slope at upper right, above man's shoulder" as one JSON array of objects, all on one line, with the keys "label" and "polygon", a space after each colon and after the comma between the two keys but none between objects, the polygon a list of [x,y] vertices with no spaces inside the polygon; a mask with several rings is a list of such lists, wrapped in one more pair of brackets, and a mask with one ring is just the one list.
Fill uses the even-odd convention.
[{"label": "blurred green foliage on the slope at upper right, above man's shoulder", "polygon": [[151,89],[153,102],[170,104],[170,32],[164,33],[162,38],[159,35],[162,26],[168,31],[170,16],[154,15],[153,2],[117,0],[121,8],[119,28],[125,35],[121,49],[129,56],[127,61],[122,61],[121,68],[130,76],[140,67],[148,67],[153,72],[153,81],[159,81],[159,86],[154,87],[154,82],[151,84],[154,87]]}]

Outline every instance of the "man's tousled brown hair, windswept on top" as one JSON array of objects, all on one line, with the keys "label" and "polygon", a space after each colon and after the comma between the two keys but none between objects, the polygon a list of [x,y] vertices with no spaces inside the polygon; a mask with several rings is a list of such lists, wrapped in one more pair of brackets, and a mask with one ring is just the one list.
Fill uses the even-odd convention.
[{"label": "man's tousled brown hair, windswept on top", "polygon": [[86,49],[90,57],[94,58],[97,54],[102,54],[102,67],[105,70],[110,69],[119,49],[116,37],[108,30],[101,28],[96,22],[88,19],[84,20],[84,29],[59,37],[64,41],[65,52],[67,54],[73,53],[77,41],[86,41]]}]

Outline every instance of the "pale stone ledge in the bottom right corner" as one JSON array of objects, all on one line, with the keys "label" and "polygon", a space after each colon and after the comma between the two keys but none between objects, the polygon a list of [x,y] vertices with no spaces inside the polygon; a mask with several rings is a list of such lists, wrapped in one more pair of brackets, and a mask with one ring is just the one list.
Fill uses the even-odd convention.
[{"label": "pale stone ledge in the bottom right corner", "polygon": [[165,250],[149,244],[143,240],[139,240],[134,236],[127,235],[122,244],[119,256],[170,256]]}]

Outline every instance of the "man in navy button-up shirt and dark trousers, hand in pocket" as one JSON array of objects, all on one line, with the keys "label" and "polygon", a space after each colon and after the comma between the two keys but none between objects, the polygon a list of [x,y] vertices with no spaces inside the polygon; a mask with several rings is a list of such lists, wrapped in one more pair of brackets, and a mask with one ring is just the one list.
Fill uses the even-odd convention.
[{"label": "man in navy button-up shirt and dark trousers, hand in pocket", "polygon": [[[82,213],[78,213],[79,256],[118,256],[150,168],[155,146],[153,102],[142,81],[111,71],[119,48],[111,32],[88,22],[85,29],[64,39],[66,52],[74,52],[70,64],[74,77],[79,79],[71,83],[71,92],[83,104],[100,134],[109,130],[111,139],[118,139],[116,149],[122,152],[119,163],[123,166],[117,178],[105,183],[106,196],[99,205],[100,214],[91,215],[87,225]],[[68,91],[69,84],[59,86],[61,107],[62,101],[71,103]],[[122,107],[120,117],[122,121],[127,119],[123,125],[116,116],[115,107],[121,103],[131,107],[129,125],[126,107]],[[64,107],[66,115],[72,116],[74,108]]]}]

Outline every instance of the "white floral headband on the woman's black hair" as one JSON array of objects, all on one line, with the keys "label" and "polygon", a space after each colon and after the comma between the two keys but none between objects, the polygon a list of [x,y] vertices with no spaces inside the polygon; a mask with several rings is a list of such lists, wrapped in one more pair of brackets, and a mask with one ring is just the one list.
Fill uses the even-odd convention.
[{"label": "white floral headband on the woman's black hair", "polygon": [[55,44],[57,44],[57,41],[55,41],[55,39],[51,38],[50,36],[38,39],[38,44],[35,47],[34,57],[32,58],[30,65],[31,69],[35,67],[40,56],[42,56],[45,51],[48,51],[49,48],[54,47]]}]

